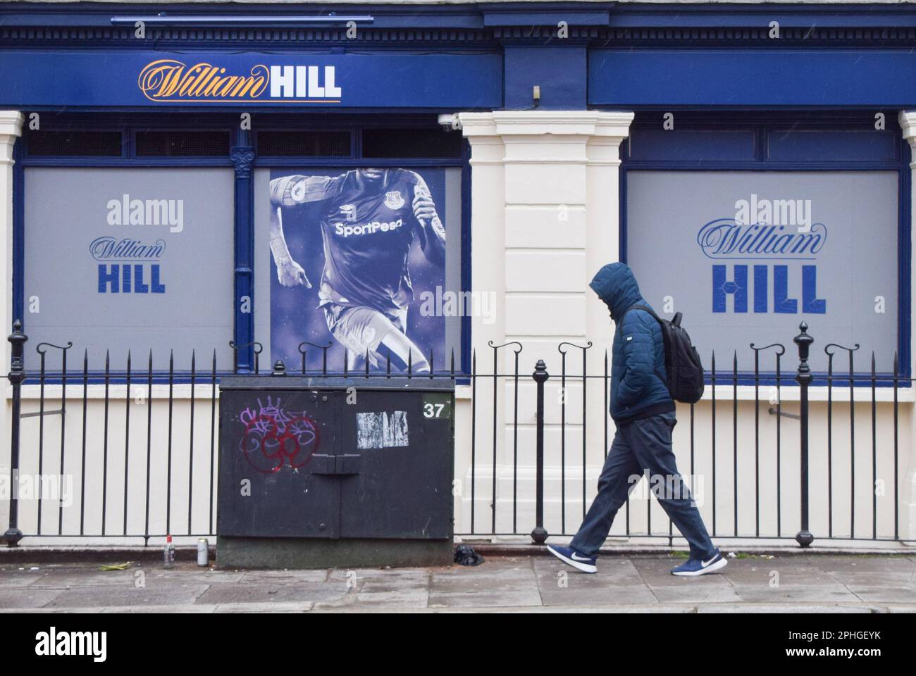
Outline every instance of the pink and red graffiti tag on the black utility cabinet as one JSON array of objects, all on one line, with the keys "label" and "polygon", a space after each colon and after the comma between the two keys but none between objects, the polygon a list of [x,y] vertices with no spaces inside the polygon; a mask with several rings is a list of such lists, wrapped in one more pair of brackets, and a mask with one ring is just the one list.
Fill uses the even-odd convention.
[{"label": "pink and red graffiti tag on the black utility cabinet", "polygon": [[321,444],[318,425],[305,411],[294,412],[275,404],[270,397],[267,406],[257,400],[257,410],[243,409],[238,419],[245,425],[239,449],[245,460],[263,474],[274,474],[284,466],[299,469],[311,460]]}]

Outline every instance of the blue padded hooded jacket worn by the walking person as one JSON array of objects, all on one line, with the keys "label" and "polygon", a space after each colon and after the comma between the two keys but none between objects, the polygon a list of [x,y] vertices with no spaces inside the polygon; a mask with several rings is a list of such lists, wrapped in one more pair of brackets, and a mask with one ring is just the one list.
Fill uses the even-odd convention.
[{"label": "blue padded hooded jacket worn by the walking person", "polygon": [[605,301],[616,324],[611,350],[611,418],[627,422],[673,411],[659,322],[645,310],[627,312],[634,305],[651,307],[639,293],[633,271],[623,263],[609,263],[588,286]]}]

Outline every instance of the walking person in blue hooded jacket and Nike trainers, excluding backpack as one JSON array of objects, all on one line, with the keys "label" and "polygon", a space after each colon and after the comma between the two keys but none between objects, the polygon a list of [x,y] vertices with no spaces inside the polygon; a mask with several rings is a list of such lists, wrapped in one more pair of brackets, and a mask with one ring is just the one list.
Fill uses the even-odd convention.
[{"label": "walking person in blue hooded jacket and Nike trainers, excluding backpack", "polygon": [[690,543],[690,559],[671,570],[696,576],[717,571],[727,560],[716,549],[703,518],[684,484],[671,452],[671,431],[677,423],[665,374],[665,346],[659,322],[648,310],[633,306],[642,298],[633,271],[623,263],[598,270],[589,287],[611,311],[616,324],[611,370],[611,418],[616,433],[598,479],[598,495],[569,547],[549,545],[564,563],[583,572],[597,572],[596,553],[604,544],[617,510],[643,472],[661,507]]}]

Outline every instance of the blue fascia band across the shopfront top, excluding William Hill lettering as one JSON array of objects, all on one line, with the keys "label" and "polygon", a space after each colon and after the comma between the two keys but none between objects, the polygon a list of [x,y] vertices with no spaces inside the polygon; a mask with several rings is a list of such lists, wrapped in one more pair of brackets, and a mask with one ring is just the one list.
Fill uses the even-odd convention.
[{"label": "blue fascia band across the shopfront top, excluding William Hill lettering", "polygon": [[[908,5],[296,5],[290,17],[289,5],[11,3],[0,7],[0,104],[192,107],[136,86],[165,59],[213,61],[226,75],[276,62],[323,78],[334,66],[344,95],[309,105],[328,109],[524,109],[532,84],[541,107],[563,110],[909,106],[916,82],[900,76],[916,60],[914,31]],[[285,98],[205,103],[308,105]]]}]

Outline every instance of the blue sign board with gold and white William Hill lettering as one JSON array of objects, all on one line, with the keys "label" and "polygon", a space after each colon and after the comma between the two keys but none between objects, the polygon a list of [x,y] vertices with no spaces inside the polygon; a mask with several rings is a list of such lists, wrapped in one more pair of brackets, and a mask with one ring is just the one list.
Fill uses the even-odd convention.
[{"label": "blue sign board with gold and white William Hill lettering", "polygon": [[[115,58],[116,55],[116,58]],[[464,110],[503,104],[496,52],[3,50],[0,105]]]}]

